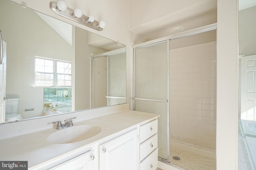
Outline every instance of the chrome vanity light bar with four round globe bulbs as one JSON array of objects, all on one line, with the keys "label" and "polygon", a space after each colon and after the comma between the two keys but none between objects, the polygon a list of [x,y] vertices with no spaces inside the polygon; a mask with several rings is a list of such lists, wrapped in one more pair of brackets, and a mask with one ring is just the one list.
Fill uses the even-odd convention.
[{"label": "chrome vanity light bar with four round globe bulbs", "polygon": [[106,23],[104,21],[96,21],[93,16],[85,16],[82,14],[80,9],[72,10],[67,7],[66,3],[62,0],[56,2],[50,2],[50,9],[69,20],[75,21],[82,25],[86,25],[90,28],[96,29],[97,31],[102,31],[104,27],[106,27]]}]

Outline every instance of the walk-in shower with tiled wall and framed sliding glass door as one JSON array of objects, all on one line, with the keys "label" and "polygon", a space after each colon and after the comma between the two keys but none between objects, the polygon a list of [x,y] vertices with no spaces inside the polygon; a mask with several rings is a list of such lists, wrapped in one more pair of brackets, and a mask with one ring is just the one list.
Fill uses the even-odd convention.
[{"label": "walk-in shower with tiled wall and framed sliding glass door", "polygon": [[133,109],[161,115],[158,160],[216,169],[216,24],[133,48]]}]

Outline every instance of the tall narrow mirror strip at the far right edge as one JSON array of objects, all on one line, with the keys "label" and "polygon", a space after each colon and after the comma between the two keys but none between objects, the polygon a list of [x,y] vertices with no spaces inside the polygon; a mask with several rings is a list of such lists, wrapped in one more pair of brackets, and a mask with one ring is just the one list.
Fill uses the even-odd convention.
[{"label": "tall narrow mirror strip at the far right edge", "polygon": [[256,168],[256,1],[239,0],[238,170]]}]

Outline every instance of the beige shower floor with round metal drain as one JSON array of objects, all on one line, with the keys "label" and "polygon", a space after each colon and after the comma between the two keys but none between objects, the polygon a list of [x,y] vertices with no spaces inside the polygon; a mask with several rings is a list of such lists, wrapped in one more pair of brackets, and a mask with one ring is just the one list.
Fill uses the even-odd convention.
[{"label": "beige shower floor with round metal drain", "polygon": [[[188,170],[216,170],[216,153],[210,150],[185,145],[179,142],[170,142],[171,164]],[[180,160],[172,159],[178,156]]]}]

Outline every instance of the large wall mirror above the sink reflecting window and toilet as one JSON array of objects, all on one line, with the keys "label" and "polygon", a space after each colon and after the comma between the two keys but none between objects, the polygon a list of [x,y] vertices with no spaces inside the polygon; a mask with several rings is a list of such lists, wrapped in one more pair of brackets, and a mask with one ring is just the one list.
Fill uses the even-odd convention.
[{"label": "large wall mirror above the sink reflecting window and toilet", "polygon": [[23,120],[126,103],[125,45],[9,0],[0,1],[0,29],[6,96],[18,98]]}]

